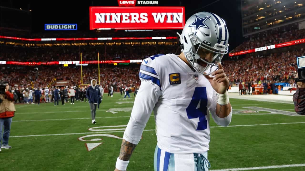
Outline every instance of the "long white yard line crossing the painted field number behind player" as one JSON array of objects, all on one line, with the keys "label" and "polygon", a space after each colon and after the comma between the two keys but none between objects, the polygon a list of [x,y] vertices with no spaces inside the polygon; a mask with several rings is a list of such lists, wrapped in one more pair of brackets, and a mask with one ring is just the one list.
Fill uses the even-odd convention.
[{"label": "long white yard line crossing the painted field number behind player", "polygon": [[[253,125],[231,125],[228,127],[250,127],[250,126],[265,126],[265,125],[283,125],[283,124],[305,124],[305,122],[289,122],[289,123],[274,123],[274,124],[253,124]],[[113,126],[111,126],[113,127]],[[219,128],[222,126],[215,126],[210,128]],[[144,131],[156,131],[155,129],[149,129]],[[67,134],[41,134],[41,135],[19,135],[10,136],[10,138],[16,137],[39,137],[39,136],[54,136],[54,135],[76,135],[76,134],[98,134],[98,133],[114,133],[114,132],[124,132],[124,131],[106,131],[106,132],[83,132],[83,133],[67,133]]]}]

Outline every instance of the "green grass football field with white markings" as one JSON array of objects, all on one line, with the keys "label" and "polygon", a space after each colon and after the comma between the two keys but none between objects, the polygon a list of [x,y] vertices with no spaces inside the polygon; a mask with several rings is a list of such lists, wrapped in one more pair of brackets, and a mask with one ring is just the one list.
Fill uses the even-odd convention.
[{"label": "green grass football field with white markings", "polygon": [[[130,99],[118,93],[104,96],[95,125],[88,103],[16,105],[12,148],[0,152],[0,170],[113,171],[133,101],[133,94]],[[305,170],[305,117],[292,114],[293,104],[233,98],[230,102],[234,114],[229,127],[210,120],[210,170]],[[154,170],[156,142],[152,114],[127,170]]]}]

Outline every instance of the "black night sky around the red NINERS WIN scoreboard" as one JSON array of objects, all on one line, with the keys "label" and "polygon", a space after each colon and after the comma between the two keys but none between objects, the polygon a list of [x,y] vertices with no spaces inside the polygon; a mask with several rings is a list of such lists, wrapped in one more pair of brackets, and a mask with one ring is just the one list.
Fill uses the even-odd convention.
[{"label": "black night sky around the red NINERS WIN scoreboard", "polygon": [[[208,5],[210,3],[213,4]],[[9,0],[1,1],[1,6],[32,10],[33,33],[43,33],[45,23],[77,23],[78,30],[89,31],[89,6],[118,6],[118,2],[117,0]],[[196,12],[213,12],[226,21],[229,30],[229,49],[232,50],[242,43],[240,0],[159,0],[158,6],[185,6],[185,19]]]}]

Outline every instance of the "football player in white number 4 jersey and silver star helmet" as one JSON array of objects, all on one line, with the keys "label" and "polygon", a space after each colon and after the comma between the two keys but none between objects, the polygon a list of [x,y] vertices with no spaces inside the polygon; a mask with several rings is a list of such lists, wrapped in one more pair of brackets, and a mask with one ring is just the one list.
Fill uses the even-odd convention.
[{"label": "football player in white number 4 jersey and silver star helmet", "polygon": [[186,21],[179,36],[181,54],[158,54],[142,62],[141,86],[115,171],[126,170],[152,111],[157,135],[155,171],[210,168],[210,113],[221,126],[228,126],[232,116],[229,80],[220,63],[228,53],[228,29],[216,14],[199,12]]}]

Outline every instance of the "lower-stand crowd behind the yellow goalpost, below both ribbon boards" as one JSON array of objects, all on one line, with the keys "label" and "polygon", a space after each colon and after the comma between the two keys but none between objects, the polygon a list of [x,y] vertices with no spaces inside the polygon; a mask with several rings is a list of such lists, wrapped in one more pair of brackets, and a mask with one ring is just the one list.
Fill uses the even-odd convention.
[{"label": "lower-stand crowd behind the yellow goalpost, below both ribbon boards", "polygon": [[[20,72],[16,72],[16,70]],[[137,87],[140,85],[138,79],[139,68],[120,66],[100,69],[100,81],[105,91],[112,85],[114,91],[120,87]],[[36,89],[51,87],[56,80],[68,80],[68,87],[77,86],[79,88],[90,85],[91,79],[98,78],[97,68],[83,69],[83,84],[81,84],[81,72],[79,68],[64,67],[2,67],[0,73],[1,81],[8,81],[12,87],[19,89]]]}]

